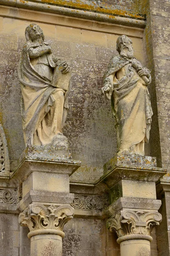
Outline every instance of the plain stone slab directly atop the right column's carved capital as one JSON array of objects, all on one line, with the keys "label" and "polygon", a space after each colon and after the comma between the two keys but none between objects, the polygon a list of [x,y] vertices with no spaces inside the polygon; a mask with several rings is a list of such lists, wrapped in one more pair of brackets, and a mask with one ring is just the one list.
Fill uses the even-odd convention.
[{"label": "plain stone slab directly atop the right column's carved capital", "polygon": [[153,211],[159,210],[161,207],[161,200],[156,199],[147,199],[147,198],[125,198],[121,197],[113,204],[108,206],[103,210],[103,215],[105,218],[116,215],[122,209],[133,209],[133,210],[142,210],[142,211]]}]

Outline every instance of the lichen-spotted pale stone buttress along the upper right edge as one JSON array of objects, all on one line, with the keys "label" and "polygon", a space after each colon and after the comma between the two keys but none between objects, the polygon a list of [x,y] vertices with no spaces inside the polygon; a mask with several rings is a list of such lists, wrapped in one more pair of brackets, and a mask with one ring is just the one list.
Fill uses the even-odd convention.
[{"label": "lichen-spotted pale stone buttress along the upper right edge", "polygon": [[[150,2],[162,166],[170,172],[170,3]],[[168,173],[167,179],[170,174]]]}]

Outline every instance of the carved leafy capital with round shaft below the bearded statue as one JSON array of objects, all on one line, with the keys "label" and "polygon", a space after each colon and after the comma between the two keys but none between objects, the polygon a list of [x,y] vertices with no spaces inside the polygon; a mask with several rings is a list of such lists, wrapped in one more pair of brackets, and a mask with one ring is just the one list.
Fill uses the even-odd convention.
[{"label": "carved leafy capital with round shaft below the bearded statue", "polygon": [[121,256],[150,256],[150,236],[153,227],[159,225],[159,212],[122,210],[107,221],[111,232],[116,231]]}]

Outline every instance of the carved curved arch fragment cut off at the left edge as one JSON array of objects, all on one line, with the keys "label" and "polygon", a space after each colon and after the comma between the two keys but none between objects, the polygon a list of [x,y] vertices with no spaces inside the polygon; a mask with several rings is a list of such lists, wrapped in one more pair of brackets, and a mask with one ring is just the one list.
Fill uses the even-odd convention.
[{"label": "carved curved arch fragment cut off at the left edge", "polygon": [[9,177],[10,165],[6,136],[0,123],[0,177]]}]

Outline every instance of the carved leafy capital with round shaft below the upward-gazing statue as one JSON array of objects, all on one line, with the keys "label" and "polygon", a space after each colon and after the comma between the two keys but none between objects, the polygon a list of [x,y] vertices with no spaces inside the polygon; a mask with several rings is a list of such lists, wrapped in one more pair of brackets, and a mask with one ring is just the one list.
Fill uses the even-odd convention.
[{"label": "carved leafy capital with round shaft below the upward-gazing statue", "polygon": [[63,227],[73,218],[71,206],[45,207],[43,204],[30,204],[19,215],[21,226],[28,226],[31,239],[31,256],[62,256]]}]

